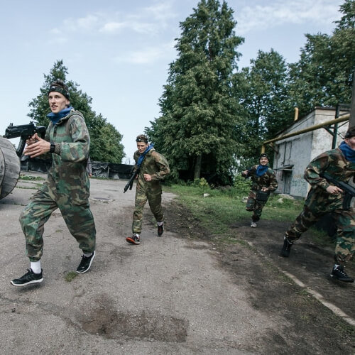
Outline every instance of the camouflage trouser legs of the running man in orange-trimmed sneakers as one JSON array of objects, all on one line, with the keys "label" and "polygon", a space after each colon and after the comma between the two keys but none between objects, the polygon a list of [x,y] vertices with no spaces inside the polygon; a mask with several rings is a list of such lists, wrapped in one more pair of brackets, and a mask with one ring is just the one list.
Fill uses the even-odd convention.
[{"label": "camouflage trouser legs of the running man in orange-trimmed sneakers", "polygon": [[149,207],[151,208],[151,212],[153,213],[156,221],[163,222],[164,215],[163,209],[161,207],[161,194],[161,188],[159,188],[158,190],[145,189],[145,187],[142,187],[141,185],[137,184],[132,223],[133,234],[141,234],[143,208],[147,200]]}]

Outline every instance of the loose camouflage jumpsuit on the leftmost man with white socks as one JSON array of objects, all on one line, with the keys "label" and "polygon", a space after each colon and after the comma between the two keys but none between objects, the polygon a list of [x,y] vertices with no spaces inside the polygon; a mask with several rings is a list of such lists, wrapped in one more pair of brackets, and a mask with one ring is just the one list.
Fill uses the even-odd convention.
[{"label": "loose camouflage jumpsuit on the leftmost man with white socks", "polygon": [[57,124],[50,122],[45,140],[56,143],[52,166],[47,179],[20,216],[26,237],[26,255],[30,261],[40,260],[44,224],[57,208],[79,248],[84,253],[92,253],[96,230],[89,208],[90,182],[86,167],[90,137],[84,117],[72,110]]}]

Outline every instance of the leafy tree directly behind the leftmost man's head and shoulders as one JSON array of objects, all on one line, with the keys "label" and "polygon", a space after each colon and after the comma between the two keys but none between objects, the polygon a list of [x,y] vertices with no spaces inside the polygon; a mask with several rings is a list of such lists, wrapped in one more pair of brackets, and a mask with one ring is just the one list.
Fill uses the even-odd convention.
[{"label": "leafy tree directly behind the leftmost man's head and shoulders", "polygon": [[45,82],[40,88],[40,94],[33,99],[28,106],[31,111],[29,117],[40,126],[48,126],[49,119],[47,114],[50,112],[48,107],[48,87],[54,80],[61,79],[67,84],[70,91],[70,104],[72,107],[82,112],[87,128],[89,129],[91,144],[90,158],[97,161],[106,161],[110,163],[121,163],[124,158],[124,146],[121,144],[122,135],[112,124],[104,119],[102,114],[96,114],[92,111],[92,98],[82,90],[79,85],[71,80],[66,80],[67,67],[63,65],[62,60],[55,62],[49,75],[44,75]]}]

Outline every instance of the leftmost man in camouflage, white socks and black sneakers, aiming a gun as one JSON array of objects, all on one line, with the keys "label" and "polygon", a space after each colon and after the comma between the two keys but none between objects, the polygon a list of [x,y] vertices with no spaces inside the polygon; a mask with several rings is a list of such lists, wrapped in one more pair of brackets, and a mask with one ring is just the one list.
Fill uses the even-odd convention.
[{"label": "leftmost man in camouflage, white socks and black sneakers, aiming a gun", "polygon": [[[44,224],[55,209],[60,209],[67,227],[79,243],[83,256],[77,273],[89,270],[95,256],[96,229],[89,208],[89,131],[80,111],[70,107],[67,86],[57,80],[50,84],[48,101],[51,113],[45,139],[29,138],[24,151],[31,158],[51,153],[52,165],[48,178],[23,209],[20,223],[26,237],[26,255],[30,259],[28,273],[12,280],[12,285],[41,283],[43,272],[40,258],[43,253]],[[45,155],[43,155],[45,156]]]}]

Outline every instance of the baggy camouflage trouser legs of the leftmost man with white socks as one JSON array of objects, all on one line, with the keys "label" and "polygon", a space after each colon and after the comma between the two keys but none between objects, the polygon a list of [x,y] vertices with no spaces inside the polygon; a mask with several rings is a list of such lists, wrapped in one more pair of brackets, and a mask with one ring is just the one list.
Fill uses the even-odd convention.
[{"label": "baggy camouflage trouser legs of the leftmost man with white socks", "polygon": [[96,244],[94,217],[88,200],[74,200],[68,194],[58,194],[45,183],[32,197],[20,215],[20,224],[26,237],[26,255],[38,261],[43,255],[44,224],[55,209],[60,209],[65,224],[84,253],[92,253]]}]

